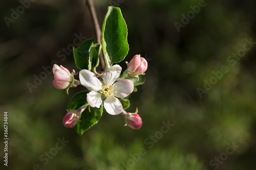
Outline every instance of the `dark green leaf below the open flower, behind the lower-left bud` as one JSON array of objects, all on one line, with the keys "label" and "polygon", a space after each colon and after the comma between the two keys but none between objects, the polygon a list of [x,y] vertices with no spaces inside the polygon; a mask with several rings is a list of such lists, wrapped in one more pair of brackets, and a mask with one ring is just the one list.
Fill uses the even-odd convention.
[{"label": "dark green leaf below the open flower, behind the lower-left bud", "polygon": [[[87,102],[88,91],[81,91],[76,93],[68,104],[68,109],[78,109]],[[88,130],[93,125],[97,124],[103,112],[103,104],[100,108],[87,107],[81,114],[81,122],[77,122],[75,130],[79,135],[82,135],[84,131]]]}]

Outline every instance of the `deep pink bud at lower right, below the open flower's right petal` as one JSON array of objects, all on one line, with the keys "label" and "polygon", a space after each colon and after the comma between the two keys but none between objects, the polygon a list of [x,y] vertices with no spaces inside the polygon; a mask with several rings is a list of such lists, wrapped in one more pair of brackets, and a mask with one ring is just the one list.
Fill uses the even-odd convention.
[{"label": "deep pink bud at lower right, below the open flower's right petal", "polygon": [[124,117],[126,119],[126,125],[128,125],[132,129],[140,129],[142,126],[142,119],[141,117],[134,113],[128,113]]}]

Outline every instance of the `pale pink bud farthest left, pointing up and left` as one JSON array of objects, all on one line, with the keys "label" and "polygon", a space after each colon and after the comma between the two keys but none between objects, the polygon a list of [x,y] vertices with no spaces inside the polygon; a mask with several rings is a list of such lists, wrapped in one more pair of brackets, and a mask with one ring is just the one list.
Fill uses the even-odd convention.
[{"label": "pale pink bud farthest left, pointing up and left", "polygon": [[54,74],[54,80],[53,80],[53,86],[56,89],[65,89],[71,86],[73,82],[73,75],[70,74],[70,71],[60,65],[60,67],[56,64],[53,66],[53,74]]}]

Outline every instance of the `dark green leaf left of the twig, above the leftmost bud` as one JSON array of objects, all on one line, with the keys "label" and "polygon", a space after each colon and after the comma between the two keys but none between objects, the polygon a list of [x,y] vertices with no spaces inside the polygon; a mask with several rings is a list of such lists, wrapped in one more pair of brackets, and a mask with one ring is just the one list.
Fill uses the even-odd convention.
[{"label": "dark green leaf left of the twig, above the leftmost bud", "polygon": [[80,69],[91,69],[89,58],[90,48],[93,46],[94,38],[83,41],[77,48],[73,47],[76,66]]}]

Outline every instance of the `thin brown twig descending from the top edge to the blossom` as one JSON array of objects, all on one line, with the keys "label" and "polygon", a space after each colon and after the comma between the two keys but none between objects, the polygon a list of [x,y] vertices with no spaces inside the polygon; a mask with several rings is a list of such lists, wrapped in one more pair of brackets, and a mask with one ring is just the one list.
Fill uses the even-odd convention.
[{"label": "thin brown twig descending from the top edge to the blossom", "polygon": [[[97,43],[101,44],[101,29],[99,27],[99,21],[98,21],[98,18],[97,18],[97,14],[96,14],[96,11],[95,11],[93,1],[92,0],[86,0],[86,5],[88,6],[89,11],[90,11],[91,16],[92,16],[93,25],[94,25],[95,32],[96,32],[96,37],[97,37]],[[99,53],[99,61],[100,61],[101,70],[102,71],[105,70],[105,62],[104,62],[102,50]]]}]

